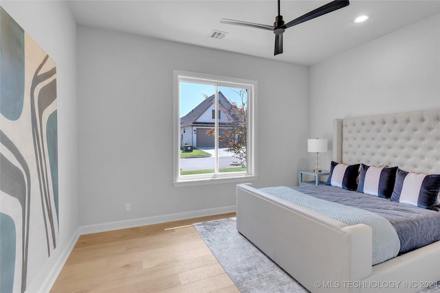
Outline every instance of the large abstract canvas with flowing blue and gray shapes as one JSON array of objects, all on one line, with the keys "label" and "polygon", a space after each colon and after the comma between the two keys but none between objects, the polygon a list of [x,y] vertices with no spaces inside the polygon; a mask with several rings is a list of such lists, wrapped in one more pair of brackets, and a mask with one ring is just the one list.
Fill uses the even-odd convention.
[{"label": "large abstract canvas with flowing blue and gray shapes", "polygon": [[25,292],[58,242],[56,65],[0,21],[0,292]]}]

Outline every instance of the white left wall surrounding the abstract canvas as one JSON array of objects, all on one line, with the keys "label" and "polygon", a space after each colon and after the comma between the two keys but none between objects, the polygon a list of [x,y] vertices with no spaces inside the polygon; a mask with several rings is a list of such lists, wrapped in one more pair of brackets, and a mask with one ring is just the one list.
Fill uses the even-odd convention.
[{"label": "white left wall surrounding the abstract canvas", "polygon": [[30,268],[26,290],[45,292],[76,240],[79,223],[76,23],[64,1],[1,1],[1,5],[56,62],[60,242],[45,263]]}]

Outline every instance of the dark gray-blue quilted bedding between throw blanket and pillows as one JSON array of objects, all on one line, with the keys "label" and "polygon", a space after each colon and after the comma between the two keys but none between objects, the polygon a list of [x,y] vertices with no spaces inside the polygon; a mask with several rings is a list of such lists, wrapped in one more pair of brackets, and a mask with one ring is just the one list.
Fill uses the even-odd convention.
[{"label": "dark gray-blue quilted bedding between throw blanket and pillows", "polygon": [[371,211],[386,218],[399,235],[400,254],[440,240],[440,211],[391,202],[386,198],[328,185],[293,187],[293,189],[322,200]]}]

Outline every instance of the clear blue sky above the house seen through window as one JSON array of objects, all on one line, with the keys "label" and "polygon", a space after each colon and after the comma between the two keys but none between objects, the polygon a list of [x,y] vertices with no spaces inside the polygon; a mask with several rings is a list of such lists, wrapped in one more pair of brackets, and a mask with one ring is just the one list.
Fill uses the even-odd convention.
[{"label": "clear blue sky above the house seen through window", "polygon": [[[191,82],[180,82],[180,117],[184,117],[190,110],[197,107],[205,97],[203,95],[214,95],[215,87],[212,84],[195,84]],[[230,102],[241,104],[241,98],[230,88],[219,86],[219,91],[227,97]],[[247,97],[246,97],[247,98]]]}]

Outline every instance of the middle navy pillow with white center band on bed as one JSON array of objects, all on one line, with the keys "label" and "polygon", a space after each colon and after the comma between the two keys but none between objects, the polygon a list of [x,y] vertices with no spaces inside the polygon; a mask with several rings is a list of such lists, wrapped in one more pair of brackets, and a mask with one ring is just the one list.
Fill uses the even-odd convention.
[{"label": "middle navy pillow with white center band on bed", "polygon": [[380,198],[393,195],[397,167],[373,167],[360,164],[358,192]]}]

